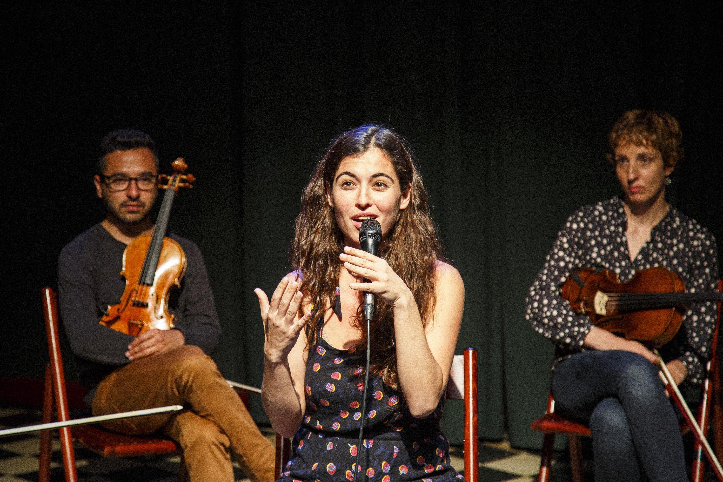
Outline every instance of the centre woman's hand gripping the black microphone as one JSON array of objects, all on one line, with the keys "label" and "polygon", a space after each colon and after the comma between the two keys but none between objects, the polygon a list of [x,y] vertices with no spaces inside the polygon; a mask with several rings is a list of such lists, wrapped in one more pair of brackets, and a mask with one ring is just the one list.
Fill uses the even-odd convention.
[{"label": "centre woman's hand gripping the black microphone", "polygon": [[346,270],[354,277],[365,277],[371,283],[349,283],[356,291],[375,293],[386,304],[394,306],[401,299],[411,296],[411,291],[387,262],[367,251],[344,246],[339,255]]}]

